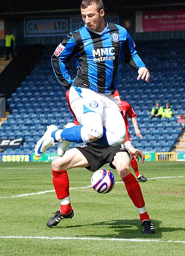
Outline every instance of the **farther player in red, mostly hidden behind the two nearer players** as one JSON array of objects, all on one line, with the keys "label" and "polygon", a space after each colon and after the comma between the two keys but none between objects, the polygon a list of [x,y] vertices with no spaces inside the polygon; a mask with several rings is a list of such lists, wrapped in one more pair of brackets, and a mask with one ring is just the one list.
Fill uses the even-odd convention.
[{"label": "farther player in red, mostly hidden behind the two nearer players", "polygon": [[[137,125],[136,114],[135,114],[133,108],[131,107],[131,105],[128,102],[121,100],[119,92],[117,90],[113,94],[113,97],[117,101],[117,105],[119,106],[121,115],[123,116],[123,119],[125,120],[125,126],[126,126],[127,130],[129,129],[129,122],[127,119],[127,115],[128,115],[129,118],[131,118],[131,121],[133,123],[135,135],[138,136],[139,138],[143,138],[143,136],[141,135],[141,132],[139,130],[139,127]],[[129,136],[130,136],[130,134],[129,134]],[[135,160],[134,156],[132,156],[130,164],[135,172],[137,180],[141,180],[143,182],[147,181],[147,178],[145,178],[142,174],[139,173],[137,161]]]}]

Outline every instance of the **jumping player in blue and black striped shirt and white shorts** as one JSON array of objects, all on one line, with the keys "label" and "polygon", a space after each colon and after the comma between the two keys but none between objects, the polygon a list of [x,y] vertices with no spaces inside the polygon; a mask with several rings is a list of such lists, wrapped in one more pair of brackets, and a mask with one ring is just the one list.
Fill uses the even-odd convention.
[{"label": "jumping player in blue and black striped shirt and white shorts", "polygon": [[[135,50],[125,28],[104,20],[101,0],[83,0],[81,13],[85,26],[69,33],[56,48],[52,66],[58,81],[70,88],[70,105],[80,125],[60,130],[49,126],[38,141],[35,154],[41,156],[56,142],[92,142],[118,145],[125,140],[125,123],[115,99],[118,61],[122,58],[135,68],[137,80],[149,82],[149,71]],[[71,79],[66,62],[77,58],[77,76]]]}]

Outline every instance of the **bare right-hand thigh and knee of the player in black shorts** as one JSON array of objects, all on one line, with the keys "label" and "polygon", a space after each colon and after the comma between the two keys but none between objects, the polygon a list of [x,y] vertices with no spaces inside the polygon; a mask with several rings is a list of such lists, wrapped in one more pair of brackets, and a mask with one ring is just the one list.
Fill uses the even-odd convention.
[{"label": "bare right-hand thigh and knee of the player in black shorts", "polygon": [[127,152],[117,152],[114,156],[112,164],[115,166],[121,178],[129,174],[130,156]]}]

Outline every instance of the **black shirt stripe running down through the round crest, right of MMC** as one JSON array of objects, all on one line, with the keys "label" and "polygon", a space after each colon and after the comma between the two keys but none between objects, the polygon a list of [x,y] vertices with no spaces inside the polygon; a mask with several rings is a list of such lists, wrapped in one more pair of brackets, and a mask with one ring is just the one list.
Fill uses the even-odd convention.
[{"label": "black shirt stripe running down through the round crest, right of MMC", "polygon": [[[117,33],[119,34],[119,29],[117,28],[117,26],[113,23],[109,23],[109,29],[110,29],[110,36],[111,34],[113,33]],[[118,42],[114,42],[112,40],[112,46],[114,47],[115,49],[115,55],[119,55],[119,51],[120,51],[120,41]],[[115,91],[115,86],[114,86],[114,80],[115,80],[115,77],[117,75],[117,69],[118,69],[118,63],[119,61],[119,56],[115,56],[115,60],[113,60],[113,76],[112,76],[112,81],[111,81],[111,86],[109,87],[109,89],[114,92]]]}]

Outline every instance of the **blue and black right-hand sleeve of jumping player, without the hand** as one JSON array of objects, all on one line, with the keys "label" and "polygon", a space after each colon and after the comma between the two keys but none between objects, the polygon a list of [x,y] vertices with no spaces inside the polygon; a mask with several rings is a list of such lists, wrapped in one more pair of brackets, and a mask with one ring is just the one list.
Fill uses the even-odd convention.
[{"label": "blue and black right-hand sleeve of jumping player, without the hand", "polygon": [[128,32],[126,34],[126,40],[121,47],[121,58],[136,70],[146,67],[141,58],[138,56],[133,39]]}]

